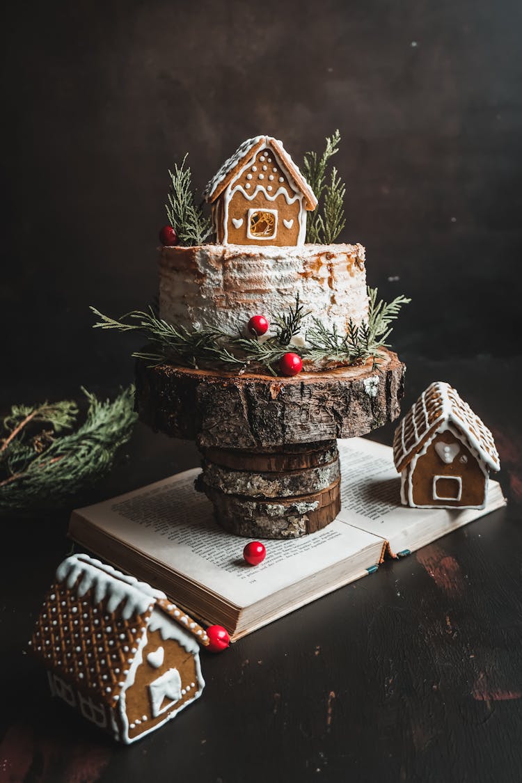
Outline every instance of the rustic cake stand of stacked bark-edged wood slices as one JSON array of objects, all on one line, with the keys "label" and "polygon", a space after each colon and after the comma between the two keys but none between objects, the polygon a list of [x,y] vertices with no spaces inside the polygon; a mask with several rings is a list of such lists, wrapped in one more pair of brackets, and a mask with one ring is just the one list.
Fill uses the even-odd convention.
[{"label": "rustic cake stand of stacked bark-edged wood slices", "polygon": [[203,464],[196,488],[223,528],[248,538],[297,538],[336,518],[336,439],[396,419],[404,373],[386,350],[378,369],[369,360],[290,378],[140,361],[136,406],[154,430],[196,441]]}]

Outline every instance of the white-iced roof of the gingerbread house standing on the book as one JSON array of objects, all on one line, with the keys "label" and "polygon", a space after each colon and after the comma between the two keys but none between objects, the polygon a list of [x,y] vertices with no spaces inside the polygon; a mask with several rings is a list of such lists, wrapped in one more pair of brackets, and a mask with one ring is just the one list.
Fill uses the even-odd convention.
[{"label": "white-iced roof of the gingerbread house standing on the book", "polygon": [[493,471],[500,470],[493,436],[452,386],[435,381],[406,413],[394,435],[394,463],[400,472],[428,441],[453,426],[466,437],[477,456]]}]

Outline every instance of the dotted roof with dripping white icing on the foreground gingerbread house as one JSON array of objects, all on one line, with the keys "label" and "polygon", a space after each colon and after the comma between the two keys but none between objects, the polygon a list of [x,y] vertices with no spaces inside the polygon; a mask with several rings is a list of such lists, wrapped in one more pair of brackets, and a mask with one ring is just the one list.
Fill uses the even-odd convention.
[{"label": "dotted roof with dripping white icing on the foreground gingerbread house", "polygon": [[182,626],[190,651],[197,651],[195,640],[209,644],[205,630],[160,590],[74,554],[56,571],[30,644],[50,669],[113,707],[146,643],[153,612]]}]

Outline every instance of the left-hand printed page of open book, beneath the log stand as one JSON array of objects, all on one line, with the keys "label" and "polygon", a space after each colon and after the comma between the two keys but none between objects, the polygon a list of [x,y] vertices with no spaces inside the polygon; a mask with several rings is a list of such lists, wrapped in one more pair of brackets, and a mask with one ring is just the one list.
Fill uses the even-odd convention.
[{"label": "left-hand printed page of open book, beneath the log stand", "polygon": [[[243,560],[247,539],[221,529],[211,502],[194,489],[199,472],[185,471],[74,514],[239,607],[367,549],[358,571],[380,559],[381,539],[336,520],[301,539],[265,541],[265,561],[251,568]],[[71,528],[74,537],[74,517]]]}]

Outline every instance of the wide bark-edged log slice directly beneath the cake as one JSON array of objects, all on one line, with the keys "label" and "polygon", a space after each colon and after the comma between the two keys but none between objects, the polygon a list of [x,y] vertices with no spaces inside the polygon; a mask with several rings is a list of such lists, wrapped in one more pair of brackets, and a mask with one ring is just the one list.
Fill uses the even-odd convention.
[{"label": "wide bark-edged log slice directly beneath the cake", "polygon": [[339,367],[291,378],[171,364],[136,370],[140,419],[175,438],[218,449],[266,449],[353,438],[400,413],[405,366],[382,350],[378,367]]}]

